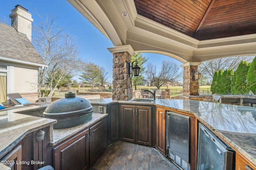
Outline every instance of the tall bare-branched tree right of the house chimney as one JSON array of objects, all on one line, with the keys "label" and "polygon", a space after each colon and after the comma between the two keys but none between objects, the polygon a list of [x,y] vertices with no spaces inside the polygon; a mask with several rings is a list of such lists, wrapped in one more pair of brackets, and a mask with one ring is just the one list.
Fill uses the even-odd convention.
[{"label": "tall bare-branched tree right of the house chimney", "polygon": [[[38,13],[37,13],[38,14]],[[52,96],[55,88],[66,75],[78,72],[83,61],[78,57],[80,53],[76,46],[76,39],[56,26],[57,17],[48,14],[42,23],[33,27],[33,45],[46,63],[38,73],[38,96],[41,96],[41,87],[46,84],[50,88],[48,96]]]}]

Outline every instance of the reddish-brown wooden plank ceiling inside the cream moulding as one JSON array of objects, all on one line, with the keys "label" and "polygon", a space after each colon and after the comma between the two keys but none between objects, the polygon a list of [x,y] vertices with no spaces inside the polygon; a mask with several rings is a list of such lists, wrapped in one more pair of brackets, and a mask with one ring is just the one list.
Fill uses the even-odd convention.
[{"label": "reddish-brown wooden plank ceiling inside the cream moulding", "polygon": [[134,0],[139,15],[198,40],[256,33],[256,0]]}]

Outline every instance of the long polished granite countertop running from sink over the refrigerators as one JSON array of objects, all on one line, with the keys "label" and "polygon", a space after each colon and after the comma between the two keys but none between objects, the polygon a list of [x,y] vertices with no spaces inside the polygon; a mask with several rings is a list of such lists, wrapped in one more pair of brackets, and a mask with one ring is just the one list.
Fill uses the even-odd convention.
[{"label": "long polished granite countertop running from sink over the refrigerators", "polygon": [[[96,100],[94,101],[96,102]],[[103,103],[110,102],[110,99],[106,99],[106,101],[101,99],[98,103],[102,101]],[[255,107],[176,99],[156,99],[155,103],[131,101],[118,101],[118,103],[162,106],[173,111],[191,113],[230,147],[236,149],[247,160],[256,165]]]}]

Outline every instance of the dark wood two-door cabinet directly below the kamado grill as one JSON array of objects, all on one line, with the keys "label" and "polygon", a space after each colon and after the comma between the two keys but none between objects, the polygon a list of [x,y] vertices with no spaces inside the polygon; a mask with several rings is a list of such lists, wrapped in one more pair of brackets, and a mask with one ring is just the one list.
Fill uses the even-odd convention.
[{"label": "dark wood two-door cabinet directly below the kamado grill", "polygon": [[107,119],[53,148],[55,170],[86,170],[107,147]]}]

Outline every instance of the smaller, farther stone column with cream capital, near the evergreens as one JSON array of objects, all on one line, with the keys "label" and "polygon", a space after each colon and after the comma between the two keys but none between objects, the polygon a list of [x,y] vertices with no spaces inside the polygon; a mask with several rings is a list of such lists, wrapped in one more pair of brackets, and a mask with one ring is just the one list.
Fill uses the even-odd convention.
[{"label": "smaller, farther stone column with cream capital, near the evergreens", "polygon": [[201,63],[185,63],[183,67],[183,95],[198,96],[199,83],[198,80],[193,81],[193,71],[195,71]]}]

